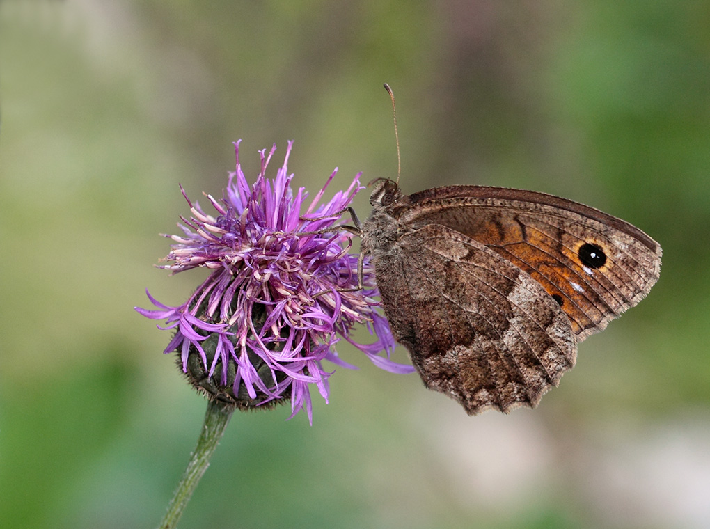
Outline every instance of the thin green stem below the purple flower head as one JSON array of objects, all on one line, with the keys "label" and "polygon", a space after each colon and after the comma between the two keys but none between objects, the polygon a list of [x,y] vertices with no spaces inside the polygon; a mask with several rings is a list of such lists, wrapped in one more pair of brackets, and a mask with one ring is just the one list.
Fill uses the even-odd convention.
[{"label": "thin green stem below the purple flower head", "polygon": [[212,458],[214,449],[222,439],[222,434],[226,425],[229,424],[232,413],[234,413],[234,408],[225,407],[224,404],[214,400],[210,400],[207,404],[207,413],[204,414],[204,425],[202,425],[200,439],[197,440],[197,446],[190,456],[190,463],[187,464],[187,469],[182,474],[178,489],[175,490],[173,499],[168,505],[168,512],[165,513],[158,529],[174,529],[178,525],[178,520],[180,520],[187,502],[190,501],[192,492],[195,491],[202,474],[209,467],[209,459]]}]

